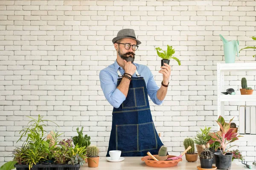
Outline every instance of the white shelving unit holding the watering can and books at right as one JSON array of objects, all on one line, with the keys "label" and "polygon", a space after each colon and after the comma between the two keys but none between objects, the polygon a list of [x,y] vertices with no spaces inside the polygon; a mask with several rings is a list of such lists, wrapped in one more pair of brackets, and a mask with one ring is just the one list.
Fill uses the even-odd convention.
[{"label": "white shelving unit holding the watering can and books at right", "polygon": [[[224,72],[225,71],[256,71],[256,62],[250,63],[217,63],[217,85],[218,85],[218,117],[224,116],[224,102],[252,102],[256,101],[256,95],[225,95],[221,92],[226,91],[224,89]],[[218,118],[217,118],[218,119]],[[256,135],[242,135],[250,136],[250,140],[256,139]],[[241,138],[242,139],[242,138]],[[239,139],[239,141],[243,141]],[[248,138],[244,138],[248,139]]]}]

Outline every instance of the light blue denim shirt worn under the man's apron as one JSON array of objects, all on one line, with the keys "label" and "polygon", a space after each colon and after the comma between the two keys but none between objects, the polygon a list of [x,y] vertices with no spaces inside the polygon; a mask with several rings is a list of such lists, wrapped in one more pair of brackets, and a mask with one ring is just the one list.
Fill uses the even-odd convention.
[{"label": "light blue denim shirt worn under the man's apron", "polygon": [[[145,80],[148,96],[150,99],[154,102],[154,104],[161,105],[163,100],[159,100],[157,98],[157,91],[159,87],[154,81],[154,77],[150,69],[146,65],[140,65],[136,63],[134,63],[134,65],[137,67],[137,71],[140,76]],[[125,95],[122,94],[118,88],[116,88],[118,79],[117,69],[119,69],[121,74],[125,73],[122,67],[120,67],[115,60],[113,64],[109,65],[107,68],[104,68],[99,73],[100,86],[102,91],[108,102],[114,108],[119,108],[122,102],[125,101]],[[136,73],[134,73],[133,77],[137,77]]]}]

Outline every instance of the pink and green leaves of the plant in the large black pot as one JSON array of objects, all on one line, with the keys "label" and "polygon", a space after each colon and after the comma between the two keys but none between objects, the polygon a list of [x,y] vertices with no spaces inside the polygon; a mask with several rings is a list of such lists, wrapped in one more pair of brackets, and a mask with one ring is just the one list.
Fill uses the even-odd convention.
[{"label": "pink and green leaves of the plant in the large black pot", "polygon": [[220,126],[220,130],[217,132],[212,132],[208,133],[209,136],[212,137],[207,143],[212,144],[214,142],[219,142],[221,144],[220,147],[215,148],[217,150],[218,148],[222,149],[221,153],[225,155],[231,147],[236,146],[230,146],[228,147],[227,145],[231,142],[234,142],[238,140],[239,137],[243,136],[238,136],[238,133],[233,132],[234,128],[230,127],[230,123],[232,122],[234,118],[230,120],[229,123],[225,122],[224,118],[222,116],[219,116],[218,120],[216,121],[218,125]]}]

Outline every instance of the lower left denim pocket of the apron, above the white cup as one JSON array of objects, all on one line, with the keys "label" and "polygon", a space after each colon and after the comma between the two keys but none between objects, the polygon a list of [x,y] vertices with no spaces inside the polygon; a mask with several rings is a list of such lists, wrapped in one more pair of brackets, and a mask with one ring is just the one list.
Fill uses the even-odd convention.
[{"label": "lower left denim pocket of the apron, above the white cup", "polygon": [[116,150],[131,152],[138,150],[138,125],[116,125]]}]

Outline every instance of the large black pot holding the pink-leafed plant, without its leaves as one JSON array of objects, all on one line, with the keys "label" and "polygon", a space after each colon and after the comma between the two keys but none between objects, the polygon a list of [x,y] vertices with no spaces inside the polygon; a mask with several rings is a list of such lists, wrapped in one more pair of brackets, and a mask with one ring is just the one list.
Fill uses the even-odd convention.
[{"label": "large black pot holding the pink-leafed plant, without its leaves", "polygon": [[221,152],[213,153],[215,156],[215,165],[218,170],[230,170],[232,163],[232,153],[226,153],[226,155],[222,155]]}]

